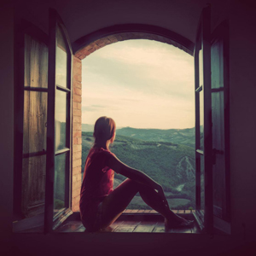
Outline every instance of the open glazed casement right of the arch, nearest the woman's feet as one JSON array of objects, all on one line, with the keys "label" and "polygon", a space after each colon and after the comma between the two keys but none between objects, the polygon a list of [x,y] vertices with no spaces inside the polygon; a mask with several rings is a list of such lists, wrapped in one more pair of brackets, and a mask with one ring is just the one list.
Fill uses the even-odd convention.
[{"label": "open glazed casement right of the arch, nearest the woman's feet", "polygon": [[202,10],[195,40],[195,218],[212,233],[211,8]]}]

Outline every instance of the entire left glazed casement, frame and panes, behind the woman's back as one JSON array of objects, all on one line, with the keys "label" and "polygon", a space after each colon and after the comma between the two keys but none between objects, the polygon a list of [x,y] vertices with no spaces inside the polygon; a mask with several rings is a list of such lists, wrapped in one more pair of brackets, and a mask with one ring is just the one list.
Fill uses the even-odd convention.
[{"label": "entire left glazed casement, frame and panes, behind the woman's back", "polygon": [[71,214],[72,58],[67,30],[49,10],[49,95],[45,232]]}]

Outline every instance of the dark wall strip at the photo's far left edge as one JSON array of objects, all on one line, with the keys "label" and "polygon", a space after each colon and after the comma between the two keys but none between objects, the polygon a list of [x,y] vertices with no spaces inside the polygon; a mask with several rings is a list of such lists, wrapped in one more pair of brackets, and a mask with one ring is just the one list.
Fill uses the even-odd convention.
[{"label": "dark wall strip at the photo's far left edge", "polygon": [[[0,242],[8,243],[12,230],[14,166],[14,11],[11,4],[0,9]],[[2,247],[0,252],[8,250]],[[1,253],[0,253],[1,254]],[[1,254],[3,255],[3,254]],[[4,254],[5,255],[5,254]]]}]

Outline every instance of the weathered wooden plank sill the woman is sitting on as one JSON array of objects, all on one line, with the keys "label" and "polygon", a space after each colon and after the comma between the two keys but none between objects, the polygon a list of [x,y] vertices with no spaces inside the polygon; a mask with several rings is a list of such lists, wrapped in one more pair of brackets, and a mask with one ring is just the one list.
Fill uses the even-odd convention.
[{"label": "weathered wooden plank sill the woman is sitting on", "polygon": [[[107,229],[98,232],[146,232],[146,233],[200,233],[200,229],[195,223],[193,227],[186,229],[166,230],[164,218],[154,211],[145,212],[124,212],[113,224]],[[184,218],[191,219],[192,215],[185,214]],[[55,230],[55,232],[86,232],[84,225],[79,219],[67,219],[66,222]]]}]

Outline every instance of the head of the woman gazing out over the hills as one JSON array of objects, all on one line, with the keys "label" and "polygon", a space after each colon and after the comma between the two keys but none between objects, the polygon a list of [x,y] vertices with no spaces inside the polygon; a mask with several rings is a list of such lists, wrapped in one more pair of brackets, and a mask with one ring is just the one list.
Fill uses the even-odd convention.
[{"label": "head of the woman gazing out over the hills", "polygon": [[[113,143],[115,137],[115,122],[107,116],[102,116],[96,120],[94,125],[95,144],[102,145],[104,143]],[[107,143],[109,141],[109,143]]]}]

